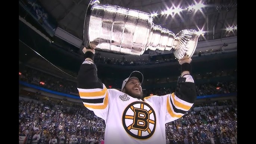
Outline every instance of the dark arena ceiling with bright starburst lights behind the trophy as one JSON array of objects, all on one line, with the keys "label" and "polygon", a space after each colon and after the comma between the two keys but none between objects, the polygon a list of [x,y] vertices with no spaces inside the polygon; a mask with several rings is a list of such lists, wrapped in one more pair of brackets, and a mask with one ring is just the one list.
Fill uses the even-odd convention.
[{"label": "dark arena ceiling with bright starburst lights behind the trophy", "polygon": [[[100,4],[117,5],[147,13],[157,13],[154,24],[168,28],[175,34],[182,29],[206,31],[205,39],[220,39],[234,36],[227,32],[228,26],[237,25],[237,0],[99,0]],[[195,2],[196,1],[196,2]],[[84,17],[88,0],[38,0],[60,28],[83,40]],[[205,7],[197,12],[183,10],[179,14],[164,14],[168,9],[186,7],[203,3]]]}]

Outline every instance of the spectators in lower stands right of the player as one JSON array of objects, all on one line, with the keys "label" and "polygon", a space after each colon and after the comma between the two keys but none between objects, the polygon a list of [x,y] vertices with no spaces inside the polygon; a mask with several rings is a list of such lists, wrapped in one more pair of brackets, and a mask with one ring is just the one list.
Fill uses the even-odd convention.
[{"label": "spectators in lower stands right of the player", "polygon": [[166,144],[237,144],[237,106],[202,107],[166,124]]}]

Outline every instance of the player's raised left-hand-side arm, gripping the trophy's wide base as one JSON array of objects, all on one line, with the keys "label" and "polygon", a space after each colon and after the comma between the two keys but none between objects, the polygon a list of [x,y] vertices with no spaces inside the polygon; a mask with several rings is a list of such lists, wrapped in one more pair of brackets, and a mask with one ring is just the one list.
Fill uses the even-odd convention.
[{"label": "player's raised left-hand-side arm, gripping the trophy's wide base", "polygon": [[84,62],[78,72],[78,92],[87,109],[106,121],[109,110],[109,93],[97,76],[97,68],[93,62],[94,50],[83,49]]}]

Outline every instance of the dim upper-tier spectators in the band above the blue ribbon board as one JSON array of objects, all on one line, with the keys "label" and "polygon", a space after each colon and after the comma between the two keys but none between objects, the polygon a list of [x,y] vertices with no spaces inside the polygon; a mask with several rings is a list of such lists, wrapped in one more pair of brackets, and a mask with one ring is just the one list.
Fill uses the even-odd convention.
[{"label": "dim upper-tier spectators in the band above the blue ribbon board", "polygon": [[[198,77],[194,76],[194,77]],[[209,78],[209,77],[207,77]],[[21,70],[19,79],[29,84],[39,85],[53,91],[71,94],[78,96],[77,83],[75,81],[59,78],[36,69],[25,67]],[[108,85],[103,81],[105,85]],[[196,85],[197,96],[212,95],[212,94],[227,94],[237,91],[236,81],[205,83]],[[150,94],[165,95],[175,92],[175,87],[168,88],[152,88],[143,91],[146,96]]]}]

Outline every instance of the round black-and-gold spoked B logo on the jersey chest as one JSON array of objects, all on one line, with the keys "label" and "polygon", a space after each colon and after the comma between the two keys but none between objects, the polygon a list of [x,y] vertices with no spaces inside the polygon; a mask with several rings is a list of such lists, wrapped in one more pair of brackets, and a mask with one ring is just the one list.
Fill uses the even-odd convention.
[{"label": "round black-and-gold spoked B logo on the jersey chest", "polygon": [[124,110],[122,121],[125,131],[140,140],[150,138],[156,129],[156,113],[143,101],[129,104]]}]

